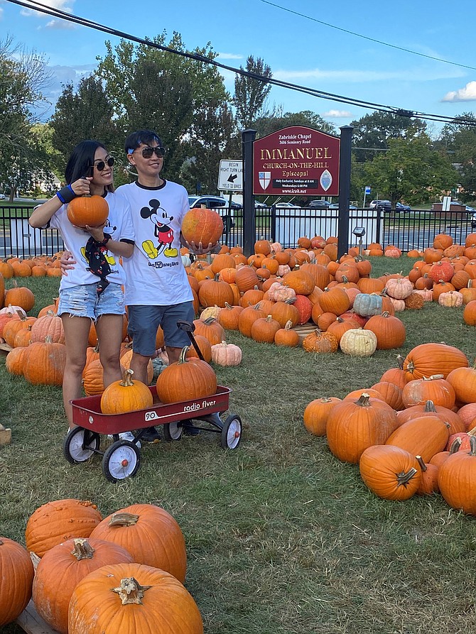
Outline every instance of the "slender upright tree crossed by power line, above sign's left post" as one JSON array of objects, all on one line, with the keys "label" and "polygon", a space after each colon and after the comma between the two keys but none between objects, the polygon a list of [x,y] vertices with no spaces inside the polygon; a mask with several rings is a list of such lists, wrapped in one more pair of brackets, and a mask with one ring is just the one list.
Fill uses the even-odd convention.
[{"label": "slender upright tree crossed by power line, above sign's left post", "polygon": [[[265,64],[261,58],[254,60],[253,55],[250,55],[247,59],[246,69],[242,66],[240,66],[240,69],[263,77],[269,77],[269,79],[273,77],[271,66]],[[233,105],[237,110],[238,126],[245,130],[259,116],[265,116],[263,113],[264,102],[270,92],[271,84],[247,75],[236,75],[234,79]]]}]

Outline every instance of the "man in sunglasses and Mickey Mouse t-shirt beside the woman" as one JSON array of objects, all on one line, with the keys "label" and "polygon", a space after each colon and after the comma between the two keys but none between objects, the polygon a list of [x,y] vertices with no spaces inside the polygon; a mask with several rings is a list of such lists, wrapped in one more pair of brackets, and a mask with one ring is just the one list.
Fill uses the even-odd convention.
[{"label": "man in sunglasses and Mickey Mouse t-shirt beside the woman", "polygon": [[[129,335],[133,341],[131,369],[134,378],[147,384],[147,365],[156,354],[156,334],[163,329],[169,363],[190,344],[179,320],[193,321],[193,294],[180,256],[180,226],[189,210],[188,192],[178,183],[161,177],[166,153],[161,139],[151,130],[129,134],[124,144],[127,160],[136,168],[136,182],[121,185],[117,195],[129,202],[132,211],[134,253],[123,259],[126,272],[126,305]],[[209,251],[202,245],[186,244],[195,253]],[[158,439],[155,427],[141,437]]]}]

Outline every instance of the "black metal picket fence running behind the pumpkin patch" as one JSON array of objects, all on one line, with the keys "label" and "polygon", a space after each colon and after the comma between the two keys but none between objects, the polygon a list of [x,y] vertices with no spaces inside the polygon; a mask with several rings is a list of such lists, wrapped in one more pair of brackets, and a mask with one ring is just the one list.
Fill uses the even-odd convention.
[{"label": "black metal picket fence running behind the pumpkin patch", "polygon": [[[243,212],[237,209],[217,209],[224,221],[222,243],[243,245]],[[10,255],[32,258],[53,256],[64,248],[56,229],[32,229],[28,224],[30,207],[0,207],[0,257]],[[338,209],[310,207],[258,207],[255,210],[256,240],[269,239],[284,247],[294,247],[301,236],[337,237]],[[472,214],[465,212],[428,211],[389,212],[377,209],[351,209],[349,212],[350,246],[357,246],[352,234],[356,226],[364,227],[364,248],[372,242],[382,246],[394,244],[402,251],[433,246],[437,234],[445,233],[457,244],[465,244],[467,234],[476,230]]]}]

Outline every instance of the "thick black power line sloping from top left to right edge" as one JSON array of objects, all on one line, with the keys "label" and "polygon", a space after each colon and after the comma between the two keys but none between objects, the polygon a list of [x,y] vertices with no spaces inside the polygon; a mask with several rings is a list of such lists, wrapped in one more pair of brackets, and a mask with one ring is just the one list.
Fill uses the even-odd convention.
[{"label": "thick black power line sloping from top left to right edge", "polygon": [[175,50],[173,48],[169,48],[168,46],[164,46],[156,42],[153,42],[152,40],[148,40],[146,38],[139,38],[137,35],[131,35],[130,33],[119,31],[116,28],[112,28],[110,26],[106,26],[104,24],[100,24],[98,22],[88,20],[87,18],[75,16],[72,13],[66,13],[65,11],[61,11],[60,9],[53,9],[52,7],[45,6],[44,4],[41,4],[40,2],[36,0],[29,0],[28,2],[24,0],[6,0],[6,1],[11,2],[12,4],[17,4],[18,6],[26,7],[26,9],[34,8],[36,11],[39,11],[40,13],[46,13],[55,18],[60,18],[68,22],[79,24],[80,26],[86,26],[87,28],[92,28],[95,31],[102,31],[103,33],[108,33],[109,35],[114,35],[116,37],[123,38],[124,40],[131,40],[132,42],[136,42],[144,46],[157,48],[158,50],[163,50],[166,53],[171,53],[173,55],[180,55],[181,57],[187,58],[189,60],[195,60],[198,62],[202,62],[204,64],[210,64],[215,67],[222,68],[223,70],[229,70],[230,72],[234,72],[237,75],[249,77],[250,79],[264,82],[266,84],[272,84],[274,86],[290,89],[295,92],[303,92],[304,94],[309,94],[311,97],[318,97],[319,99],[328,99],[330,101],[339,102],[342,104],[349,104],[349,105],[358,106],[361,108],[370,108],[373,110],[379,110],[382,112],[388,112],[390,114],[406,116],[409,118],[416,117],[418,119],[429,119],[431,121],[440,121],[443,123],[456,123],[456,124],[465,124],[469,126],[476,126],[476,121],[474,119],[464,119],[463,117],[459,116],[458,121],[455,121],[455,117],[443,116],[438,114],[426,114],[426,113],[416,112],[416,111],[411,111],[406,109],[399,109],[393,106],[386,106],[383,104],[374,104],[372,102],[364,102],[360,99],[355,99],[353,97],[344,97],[340,94],[332,94],[331,92],[324,92],[324,91],[316,90],[313,88],[301,86],[299,84],[283,82],[281,80],[276,80],[274,77],[264,77],[264,75],[259,75],[258,73],[255,73],[255,72],[249,72],[247,70],[244,70],[241,67],[235,68],[233,66],[222,64],[221,62],[217,62],[217,60],[207,58],[205,55],[200,55],[198,53],[187,53],[182,50]]}]

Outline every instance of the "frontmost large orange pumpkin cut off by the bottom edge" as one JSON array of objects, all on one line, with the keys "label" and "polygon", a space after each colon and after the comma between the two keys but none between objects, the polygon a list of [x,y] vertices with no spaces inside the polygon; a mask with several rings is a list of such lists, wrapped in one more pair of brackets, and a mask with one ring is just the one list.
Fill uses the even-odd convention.
[{"label": "frontmost large orange pumpkin cut off by the bottom edge", "polygon": [[200,611],[175,577],[141,564],[104,566],[72,593],[69,634],[203,634]]}]

